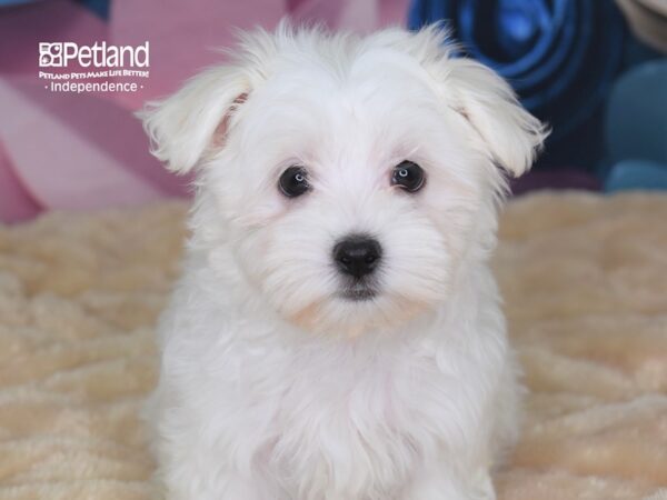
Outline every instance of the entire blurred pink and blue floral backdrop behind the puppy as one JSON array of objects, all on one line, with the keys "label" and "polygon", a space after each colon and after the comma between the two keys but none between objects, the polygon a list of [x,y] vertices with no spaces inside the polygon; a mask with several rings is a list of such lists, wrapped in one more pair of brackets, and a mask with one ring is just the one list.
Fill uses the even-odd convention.
[{"label": "entire blurred pink and blue floral backdrop behind the puppy", "polygon": [[[0,221],[188,196],[132,112],[220,62],[213,49],[235,28],[285,16],[357,32],[447,20],[461,56],[498,71],[552,127],[517,194],[667,189],[667,0],[0,0]],[[49,90],[39,43],[96,41],[149,41],[150,76],[129,79],[136,92]]]}]

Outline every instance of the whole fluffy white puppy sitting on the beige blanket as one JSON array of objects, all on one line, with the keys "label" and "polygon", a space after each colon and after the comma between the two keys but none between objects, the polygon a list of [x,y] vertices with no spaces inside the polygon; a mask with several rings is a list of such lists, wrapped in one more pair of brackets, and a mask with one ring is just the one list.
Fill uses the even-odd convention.
[{"label": "whole fluffy white puppy sitting on the beige blanket", "polygon": [[495,497],[520,389],[488,259],[545,131],[451,52],[282,23],[143,111],[197,171],[149,412],[168,499]]}]

